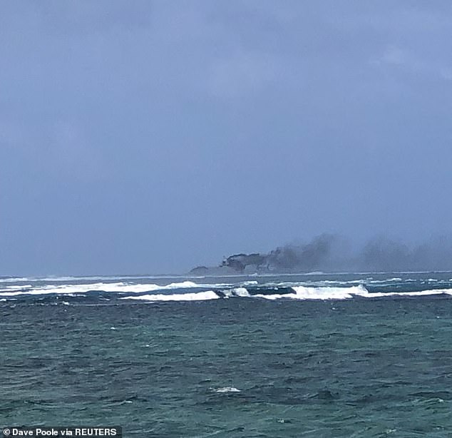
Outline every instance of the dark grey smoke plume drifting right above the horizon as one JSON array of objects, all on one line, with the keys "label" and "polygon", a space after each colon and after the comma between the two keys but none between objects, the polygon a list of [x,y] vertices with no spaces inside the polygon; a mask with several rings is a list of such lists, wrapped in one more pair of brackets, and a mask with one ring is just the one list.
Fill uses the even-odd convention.
[{"label": "dark grey smoke plume drifting right above the horizon", "polygon": [[[198,267],[193,271],[209,269]],[[379,237],[352,248],[346,238],[322,234],[309,243],[284,245],[267,254],[230,255],[215,269],[236,273],[452,270],[452,242],[449,238],[433,238],[426,243],[409,245]]]}]

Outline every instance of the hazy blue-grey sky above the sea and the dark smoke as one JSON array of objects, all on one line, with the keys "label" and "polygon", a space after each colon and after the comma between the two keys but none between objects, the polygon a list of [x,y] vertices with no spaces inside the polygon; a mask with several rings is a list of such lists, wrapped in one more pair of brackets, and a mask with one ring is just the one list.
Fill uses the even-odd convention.
[{"label": "hazy blue-grey sky above the sea and the dark smoke", "polygon": [[451,146],[450,1],[0,4],[0,275],[450,235]]}]

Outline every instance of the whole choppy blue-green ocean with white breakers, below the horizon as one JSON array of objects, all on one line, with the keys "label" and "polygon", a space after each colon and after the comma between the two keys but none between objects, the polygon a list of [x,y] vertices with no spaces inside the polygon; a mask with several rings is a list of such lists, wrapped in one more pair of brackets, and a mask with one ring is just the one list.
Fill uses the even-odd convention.
[{"label": "whole choppy blue-green ocean with white breakers, below the horizon", "polygon": [[452,273],[0,278],[0,427],[452,437]]}]

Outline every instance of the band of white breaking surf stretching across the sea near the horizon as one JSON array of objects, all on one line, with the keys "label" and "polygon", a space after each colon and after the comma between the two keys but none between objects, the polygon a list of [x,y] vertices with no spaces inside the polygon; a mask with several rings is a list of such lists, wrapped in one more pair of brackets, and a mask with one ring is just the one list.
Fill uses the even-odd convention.
[{"label": "band of white breaking surf stretching across the sea near the horizon", "polygon": [[[411,273],[405,277],[374,274],[369,277],[340,278],[325,275],[325,278],[308,279],[292,276],[269,278],[231,277],[212,278],[211,282],[194,282],[193,279],[174,281],[174,277],[152,281],[143,279],[83,282],[71,280],[39,280],[16,278],[16,282],[0,282],[1,302],[9,300],[39,300],[54,303],[90,303],[135,300],[138,302],[160,301],[207,301],[219,299],[254,300],[352,300],[381,299],[389,297],[428,297],[452,295],[450,273],[433,278],[432,273],[417,277]],[[75,277],[71,277],[72,279]],[[158,284],[160,283],[160,284]],[[433,286],[433,287],[432,287]],[[85,300],[85,301],[83,301]],[[124,303],[124,301],[122,301]]]}]

